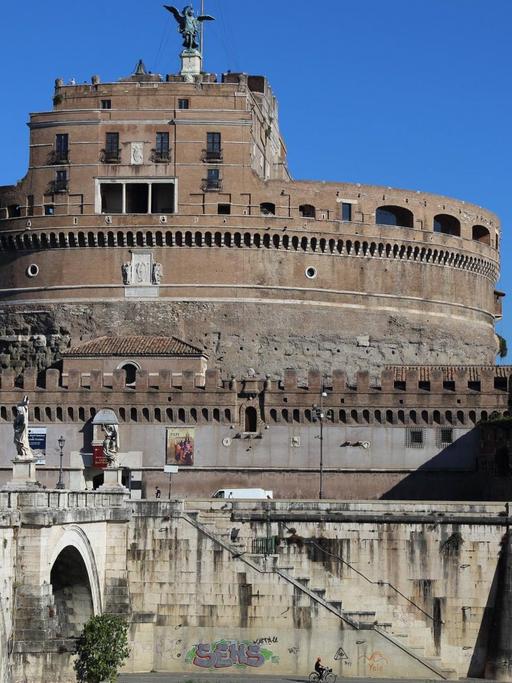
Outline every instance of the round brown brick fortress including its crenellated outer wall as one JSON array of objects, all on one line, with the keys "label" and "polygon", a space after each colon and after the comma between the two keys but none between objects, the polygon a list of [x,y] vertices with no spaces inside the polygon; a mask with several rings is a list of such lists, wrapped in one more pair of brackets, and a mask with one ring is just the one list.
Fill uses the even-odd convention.
[{"label": "round brown brick fortress including its crenellated outer wall", "polygon": [[63,435],[66,481],[96,487],[108,407],[135,495],[166,482],[174,427],[194,441],[177,493],[307,497],[322,402],[326,495],[499,495],[475,428],[508,408],[497,217],[292,180],[267,80],[198,55],[165,78],[141,61],[116,83],[58,79],[31,115],[28,173],[0,188],[0,433],[30,393],[41,483]]}]

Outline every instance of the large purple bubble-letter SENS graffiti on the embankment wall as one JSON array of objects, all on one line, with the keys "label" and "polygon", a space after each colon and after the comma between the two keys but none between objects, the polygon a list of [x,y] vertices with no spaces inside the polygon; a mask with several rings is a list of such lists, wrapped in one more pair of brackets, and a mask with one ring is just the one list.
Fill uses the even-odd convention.
[{"label": "large purple bubble-letter SENS graffiti on the embankment wall", "polygon": [[279,657],[249,640],[217,640],[194,645],[186,655],[188,663],[202,669],[259,668],[266,662],[278,664]]}]

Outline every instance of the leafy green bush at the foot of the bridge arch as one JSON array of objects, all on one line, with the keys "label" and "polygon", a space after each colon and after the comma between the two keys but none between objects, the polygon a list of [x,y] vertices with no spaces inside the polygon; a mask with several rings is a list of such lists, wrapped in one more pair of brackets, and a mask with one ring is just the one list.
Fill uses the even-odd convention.
[{"label": "leafy green bush at the foot of the bridge arch", "polygon": [[77,641],[76,654],[79,683],[113,683],[130,654],[128,624],[114,614],[91,617]]}]

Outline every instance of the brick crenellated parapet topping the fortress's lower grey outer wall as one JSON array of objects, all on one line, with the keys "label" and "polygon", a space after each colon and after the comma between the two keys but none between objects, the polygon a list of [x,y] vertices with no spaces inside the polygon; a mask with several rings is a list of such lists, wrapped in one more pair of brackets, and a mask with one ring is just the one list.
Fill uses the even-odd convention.
[{"label": "brick crenellated parapet topping the fortress's lower grey outer wall", "polygon": [[84,422],[108,406],[120,422],[243,425],[250,410],[260,427],[293,425],[315,422],[321,405],[326,424],[472,425],[496,412],[508,415],[511,376],[512,366],[389,367],[379,383],[359,371],[351,384],[343,370],[328,377],[310,370],[305,381],[294,370],[280,380],[225,378],[216,369],[142,370],[127,386],[123,370],[27,370],[19,384],[14,372],[3,371],[0,421],[12,420],[12,406],[28,394],[34,423]]}]

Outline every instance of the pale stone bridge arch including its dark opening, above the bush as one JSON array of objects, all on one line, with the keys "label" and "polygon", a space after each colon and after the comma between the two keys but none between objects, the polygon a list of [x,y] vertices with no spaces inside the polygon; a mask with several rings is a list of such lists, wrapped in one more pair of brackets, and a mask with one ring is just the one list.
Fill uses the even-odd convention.
[{"label": "pale stone bridge arch including its dark opening, above the bush", "polygon": [[52,549],[48,573],[59,625],[78,636],[88,619],[102,612],[96,559],[87,534],[79,526],[67,527]]}]

